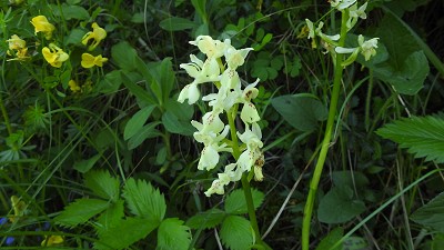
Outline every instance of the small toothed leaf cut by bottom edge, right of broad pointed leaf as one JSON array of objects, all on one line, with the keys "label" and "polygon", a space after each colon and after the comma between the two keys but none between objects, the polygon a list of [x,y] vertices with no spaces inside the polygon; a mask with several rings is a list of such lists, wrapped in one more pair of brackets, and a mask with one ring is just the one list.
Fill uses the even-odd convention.
[{"label": "small toothed leaf cut by bottom edge, right of broad pointed leaf", "polygon": [[190,228],[178,218],[162,221],[158,230],[158,250],[186,250],[191,243]]}]

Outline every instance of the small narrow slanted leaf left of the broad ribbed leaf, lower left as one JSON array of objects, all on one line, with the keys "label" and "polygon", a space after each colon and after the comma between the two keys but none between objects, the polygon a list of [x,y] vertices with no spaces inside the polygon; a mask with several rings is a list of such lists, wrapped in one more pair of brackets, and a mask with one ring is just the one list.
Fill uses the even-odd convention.
[{"label": "small narrow slanted leaf left of the broad ribbed leaf, lower left", "polygon": [[99,234],[119,226],[120,221],[124,217],[123,203],[123,200],[117,200],[100,214],[97,221],[98,227],[95,227]]}]

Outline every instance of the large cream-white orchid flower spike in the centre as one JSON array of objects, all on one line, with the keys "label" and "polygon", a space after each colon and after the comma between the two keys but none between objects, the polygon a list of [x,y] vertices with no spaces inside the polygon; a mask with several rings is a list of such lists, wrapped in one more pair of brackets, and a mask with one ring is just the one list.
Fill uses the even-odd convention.
[{"label": "large cream-white orchid flower spike in the centre", "polygon": [[[212,193],[223,194],[224,186],[239,181],[244,172],[250,172],[252,169],[254,169],[254,179],[261,181],[263,179],[262,166],[264,164],[261,151],[263,147],[262,132],[258,124],[260,116],[252,102],[252,99],[258,97],[259,90],[255,86],[259,79],[242,90],[241,79],[236,72],[253,49],[238,50],[231,46],[229,39],[219,41],[209,36],[200,36],[190,43],[196,46],[206,56],[206,59],[202,61],[191,54],[191,62],[180,66],[194,80],[182,89],[178,101],[184,102],[188,99],[189,104],[195,103],[201,96],[199,84],[214,82],[218,88],[216,93],[202,97],[202,100],[208,101],[212,110],[202,117],[202,122],[191,121],[198,130],[193,134],[194,139],[204,146],[198,169],[214,169],[219,162],[220,152],[231,152],[238,158],[235,163],[225,166],[224,172],[218,174],[219,178],[213,181],[205,194],[208,197]],[[230,119],[235,119],[240,104],[242,104],[240,118],[244,124],[243,133],[233,128],[234,122],[230,123]],[[221,119],[221,114],[224,112],[230,124],[224,124]],[[226,139],[230,130],[232,141]],[[241,147],[238,147],[238,137],[242,142]],[[239,151],[240,149],[242,151]]]}]

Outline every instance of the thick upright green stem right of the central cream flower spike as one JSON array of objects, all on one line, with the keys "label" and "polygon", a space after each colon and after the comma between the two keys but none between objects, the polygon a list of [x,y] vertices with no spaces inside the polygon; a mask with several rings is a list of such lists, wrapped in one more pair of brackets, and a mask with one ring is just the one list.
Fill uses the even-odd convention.
[{"label": "thick upright green stem right of the central cream flower spike", "polygon": [[[346,29],[347,29],[345,23],[347,21],[347,16],[349,14],[346,13],[346,10],[344,12],[342,12],[341,39],[337,44],[340,47],[344,47],[344,43],[345,43]],[[329,119],[326,121],[324,139],[322,141],[320,156],[317,158],[317,162],[314,168],[313,178],[312,178],[312,181],[310,182],[310,191],[309,191],[309,196],[306,198],[306,203],[305,203],[305,208],[304,208],[304,218],[302,221],[302,250],[310,249],[310,226],[311,226],[310,223],[311,223],[311,219],[312,219],[313,206],[314,206],[314,200],[315,200],[315,196],[316,196],[316,191],[317,191],[317,186],[319,186],[319,181],[321,179],[322,169],[324,168],[326,153],[329,152],[329,146],[330,146],[330,141],[332,138],[334,120],[336,117],[336,107],[337,107],[337,100],[339,100],[340,90],[341,90],[341,80],[342,80],[342,72],[343,72],[343,67],[341,66],[343,58],[344,58],[343,54],[336,53],[336,62],[335,62],[334,79],[333,79],[333,92],[332,92],[332,99],[331,99],[330,109],[329,109]]]}]

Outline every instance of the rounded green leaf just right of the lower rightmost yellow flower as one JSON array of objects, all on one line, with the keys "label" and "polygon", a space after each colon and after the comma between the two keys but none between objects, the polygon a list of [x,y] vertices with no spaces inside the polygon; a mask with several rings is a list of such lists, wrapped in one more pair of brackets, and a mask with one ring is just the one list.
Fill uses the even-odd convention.
[{"label": "rounded green leaf just right of the lower rightmost yellow flower", "polygon": [[119,68],[132,71],[138,68],[138,52],[127,41],[119,42],[111,48],[111,58]]}]

